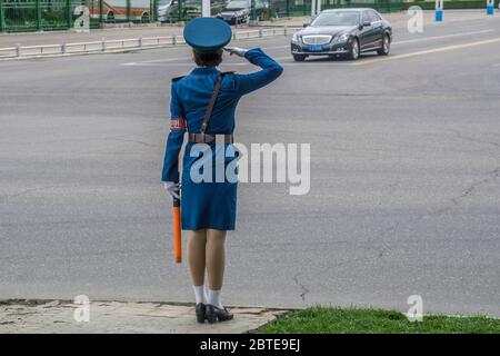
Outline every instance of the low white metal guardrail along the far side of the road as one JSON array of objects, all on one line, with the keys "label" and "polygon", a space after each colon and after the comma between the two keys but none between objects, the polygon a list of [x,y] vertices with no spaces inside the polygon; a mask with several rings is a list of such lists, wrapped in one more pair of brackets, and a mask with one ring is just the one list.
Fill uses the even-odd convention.
[{"label": "low white metal guardrail along the far side of the road", "polygon": [[[272,28],[257,29],[249,31],[234,31],[233,40],[258,39],[274,36],[289,36],[299,28]],[[0,48],[0,58],[19,58],[19,57],[40,57],[49,55],[68,55],[68,53],[91,53],[120,51],[128,49],[148,49],[184,44],[184,38],[181,34],[166,37],[139,37],[131,39],[107,40],[102,38],[100,41],[74,42],[60,44],[38,44],[38,46],[16,46]]]}]

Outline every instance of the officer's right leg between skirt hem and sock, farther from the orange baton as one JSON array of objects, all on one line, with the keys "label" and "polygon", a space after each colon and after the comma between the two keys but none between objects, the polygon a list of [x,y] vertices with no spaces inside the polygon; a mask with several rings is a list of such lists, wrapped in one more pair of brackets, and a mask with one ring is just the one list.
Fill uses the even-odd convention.
[{"label": "officer's right leg between skirt hem and sock, farther from the orange baton", "polygon": [[226,231],[207,229],[207,273],[209,289],[220,290],[226,266]]}]

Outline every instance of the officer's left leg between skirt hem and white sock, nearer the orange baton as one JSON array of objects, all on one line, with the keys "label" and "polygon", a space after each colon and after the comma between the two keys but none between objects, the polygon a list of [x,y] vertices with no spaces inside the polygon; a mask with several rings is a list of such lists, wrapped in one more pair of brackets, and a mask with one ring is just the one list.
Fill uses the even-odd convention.
[{"label": "officer's left leg between skirt hem and white sock, nearer the orange baton", "polygon": [[188,231],[188,261],[193,286],[204,284],[207,230]]}]

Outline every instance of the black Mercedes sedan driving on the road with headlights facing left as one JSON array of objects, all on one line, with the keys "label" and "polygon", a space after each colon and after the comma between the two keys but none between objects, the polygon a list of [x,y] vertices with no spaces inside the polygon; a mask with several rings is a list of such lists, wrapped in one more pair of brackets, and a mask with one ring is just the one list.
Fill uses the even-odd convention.
[{"label": "black Mercedes sedan driving on the road with headlights facing left", "polygon": [[369,51],[387,56],[391,41],[391,24],[373,9],[324,10],[293,34],[291,53],[296,61],[309,56],[358,59]]}]

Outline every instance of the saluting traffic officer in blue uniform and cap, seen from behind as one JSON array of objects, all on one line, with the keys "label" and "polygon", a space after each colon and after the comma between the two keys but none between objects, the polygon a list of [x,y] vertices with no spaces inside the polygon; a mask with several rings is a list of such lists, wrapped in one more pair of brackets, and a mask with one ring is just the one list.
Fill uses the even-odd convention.
[{"label": "saluting traffic officer in blue uniform and cap, seen from behind", "polygon": [[[163,161],[162,181],[173,197],[181,196],[182,229],[188,230],[188,263],[196,296],[199,323],[223,322],[232,314],[222,306],[220,294],[224,271],[226,233],[234,229],[237,181],[216,179],[216,150],[232,146],[234,111],[240,98],[269,85],[283,68],[261,49],[246,50],[224,47],[231,40],[231,28],[222,20],[198,18],[188,22],[183,36],[192,47],[197,67],[184,77],[172,79],[170,97],[170,134]],[[222,49],[246,58],[261,69],[248,75],[221,72]],[[188,131],[183,155],[182,181],[179,185],[179,152]],[[214,145],[223,142],[223,145]],[[193,150],[198,144],[209,147],[202,154]],[[193,154],[194,152],[194,154]],[[236,152],[238,154],[238,152]],[[211,160],[213,179],[193,179],[193,165]],[[224,168],[234,158],[224,158]],[[226,169],[224,169],[226,172]],[[203,176],[206,177],[206,176]],[[219,179],[220,180],[220,179]],[[204,273],[208,275],[208,295]]]}]

